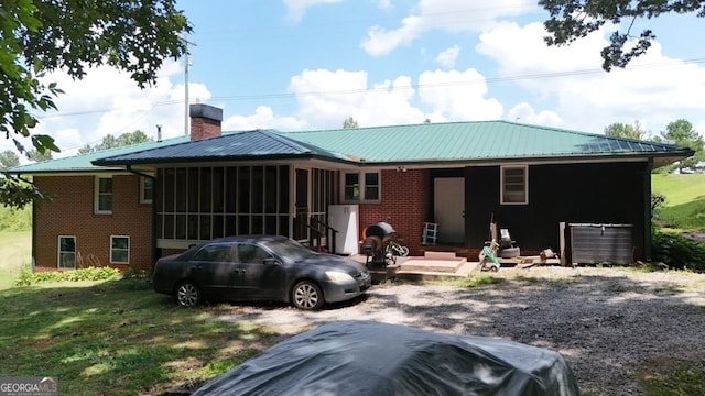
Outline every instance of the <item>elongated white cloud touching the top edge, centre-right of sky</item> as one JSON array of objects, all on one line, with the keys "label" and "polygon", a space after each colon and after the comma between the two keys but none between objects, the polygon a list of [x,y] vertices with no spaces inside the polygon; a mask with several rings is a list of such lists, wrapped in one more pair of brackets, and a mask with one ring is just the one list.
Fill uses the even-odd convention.
[{"label": "elongated white cloud touching the top edge, centre-right of sky", "polygon": [[536,9],[531,0],[421,0],[397,29],[375,25],[368,29],[362,48],[370,55],[384,55],[401,45],[417,40],[424,32],[441,29],[447,32],[479,31],[496,21]]}]

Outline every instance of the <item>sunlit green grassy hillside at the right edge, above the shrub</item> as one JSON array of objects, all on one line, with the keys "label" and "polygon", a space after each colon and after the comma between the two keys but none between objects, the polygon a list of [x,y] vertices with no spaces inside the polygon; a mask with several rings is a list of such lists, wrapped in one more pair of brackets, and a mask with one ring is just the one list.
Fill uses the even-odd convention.
[{"label": "sunlit green grassy hillside at the right edge, above the shrub", "polygon": [[657,210],[657,224],[705,231],[705,174],[653,175],[651,189],[665,196]]}]

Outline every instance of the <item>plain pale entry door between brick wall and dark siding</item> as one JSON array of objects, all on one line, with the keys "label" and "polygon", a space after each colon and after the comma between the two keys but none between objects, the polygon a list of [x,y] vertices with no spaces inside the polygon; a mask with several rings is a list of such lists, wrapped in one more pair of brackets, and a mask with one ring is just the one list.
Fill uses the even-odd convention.
[{"label": "plain pale entry door between brick wall and dark siding", "polygon": [[438,223],[438,242],[465,241],[465,178],[434,179],[434,218]]}]

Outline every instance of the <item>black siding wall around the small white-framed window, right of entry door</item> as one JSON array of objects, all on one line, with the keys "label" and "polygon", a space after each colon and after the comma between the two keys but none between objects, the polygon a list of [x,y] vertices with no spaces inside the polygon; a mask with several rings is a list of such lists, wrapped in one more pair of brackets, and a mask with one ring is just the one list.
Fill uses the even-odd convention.
[{"label": "black siding wall around the small white-framed window, right of entry door", "polygon": [[466,243],[481,246],[490,218],[509,229],[522,254],[558,249],[558,223],[633,224],[634,258],[643,258],[646,163],[529,166],[529,205],[500,205],[499,166],[468,167]]}]

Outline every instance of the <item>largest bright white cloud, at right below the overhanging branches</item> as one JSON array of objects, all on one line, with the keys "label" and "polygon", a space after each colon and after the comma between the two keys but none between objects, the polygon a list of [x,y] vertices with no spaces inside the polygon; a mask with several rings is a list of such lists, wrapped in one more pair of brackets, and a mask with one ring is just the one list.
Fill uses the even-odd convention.
[{"label": "largest bright white cloud, at right below the overhanging branches", "polygon": [[510,79],[530,102],[555,102],[552,111],[565,128],[601,132],[612,122],[639,120],[658,132],[676,118],[703,122],[705,68],[666,57],[655,42],[626,69],[601,70],[603,34],[570,46],[549,47],[540,23],[501,24],[480,35],[477,51],[494,58],[499,75]]}]

